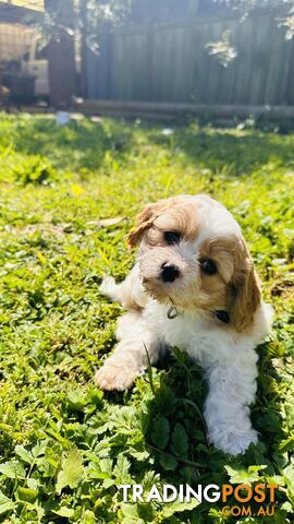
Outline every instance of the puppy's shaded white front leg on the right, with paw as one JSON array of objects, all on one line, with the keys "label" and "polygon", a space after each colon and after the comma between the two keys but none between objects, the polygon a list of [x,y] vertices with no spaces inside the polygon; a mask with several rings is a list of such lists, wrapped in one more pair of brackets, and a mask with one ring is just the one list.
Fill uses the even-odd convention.
[{"label": "puppy's shaded white front leg on the right, with paw", "polygon": [[257,355],[252,352],[232,364],[211,366],[207,371],[209,394],[205,403],[208,440],[219,450],[237,455],[257,442],[249,404],[256,394]]}]

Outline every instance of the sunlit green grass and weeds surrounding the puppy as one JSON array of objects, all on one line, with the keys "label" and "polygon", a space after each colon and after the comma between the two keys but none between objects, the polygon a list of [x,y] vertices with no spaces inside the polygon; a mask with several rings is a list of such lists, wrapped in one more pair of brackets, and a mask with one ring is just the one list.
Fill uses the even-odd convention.
[{"label": "sunlit green grass and weeds surrounding the puppy", "polygon": [[[1,522],[293,522],[293,147],[291,134],[193,122],[170,133],[0,117]],[[206,383],[185,355],[175,350],[124,394],[103,394],[93,380],[121,314],[98,285],[132,266],[125,236],[136,213],[198,192],[242,224],[275,309],[273,334],[258,348],[260,442],[238,457],[207,444]],[[274,515],[225,517],[221,502],[127,504],[118,490],[230,481],[278,484]]]}]

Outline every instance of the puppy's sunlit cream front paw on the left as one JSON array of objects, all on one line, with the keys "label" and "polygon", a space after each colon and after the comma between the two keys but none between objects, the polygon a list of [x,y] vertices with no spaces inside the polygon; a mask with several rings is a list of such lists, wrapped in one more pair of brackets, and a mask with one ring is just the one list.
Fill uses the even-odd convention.
[{"label": "puppy's sunlit cream front paw on the left", "polygon": [[138,377],[138,372],[130,369],[126,365],[118,366],[105,364],[95,376],[96,383],[106,391],[124,391],[130,388]]}]

